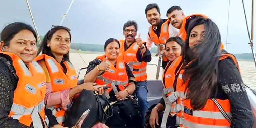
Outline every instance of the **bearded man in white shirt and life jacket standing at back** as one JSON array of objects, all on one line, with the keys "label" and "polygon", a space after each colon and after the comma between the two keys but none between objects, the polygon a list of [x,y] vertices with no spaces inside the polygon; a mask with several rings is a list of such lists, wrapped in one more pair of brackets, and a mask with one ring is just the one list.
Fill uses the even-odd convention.
[{"label": "bearded man in white shirt and life jacket standing at back", "polygon": [[154,42],[158,50],[156,56],[159,55],[156,76],[156,79],[158,79],[161,57],[163,60],[162,65],[166,65],[167,63],[167,58],[163,54],[165,42],[170,37],[177,36],[179,30],[174,28],[172,25],[169,25],[170,22],[168,19],[161,19],[160,9],[156,3],[148,4],[145,9],[145,13],[148,23],[151,24],[147,35],[147,48],[150,49]]}]

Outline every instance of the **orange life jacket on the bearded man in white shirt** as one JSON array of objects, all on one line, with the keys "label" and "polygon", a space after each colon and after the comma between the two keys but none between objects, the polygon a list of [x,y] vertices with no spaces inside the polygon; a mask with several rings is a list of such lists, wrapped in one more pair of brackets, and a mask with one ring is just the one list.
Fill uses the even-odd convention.
[{"label": "orange life jacket on the bearded man in white shirt", "polygon": [[[149,30],[148,30],[148,35],[150,36],[151,40],[155,43],[155,45],[157,46],[157,52],[160,51],[159,54],[163,54],[163,46],[165,46],[165,41],[167,41],[169,38],[170,38],[170,35],[169,35],[169,23],[170,21],[169,20],[166,20],[166,22],[164,22],[162,25],[161,25],[161,32],[160,32],[160,36],[158,37],[157,34],[154,32],[153,30],[153,26],[151,25],[149,27]],[[167,57],[163,56],[162,59],[164,61],[167,61]]]}]

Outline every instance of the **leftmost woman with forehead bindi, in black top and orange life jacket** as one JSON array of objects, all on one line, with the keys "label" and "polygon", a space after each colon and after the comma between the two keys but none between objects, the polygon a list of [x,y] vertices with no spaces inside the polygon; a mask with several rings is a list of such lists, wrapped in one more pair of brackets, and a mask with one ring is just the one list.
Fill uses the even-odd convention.
[{"label": "leftmost woman with forehead bindi, in black top and orange life jacket", "polygon": [[21,22],[11,23],[1,32],[1,128],[61,128],[51,110],[45,109],[46,77],[33,61],[36,37],[34,29]]}]

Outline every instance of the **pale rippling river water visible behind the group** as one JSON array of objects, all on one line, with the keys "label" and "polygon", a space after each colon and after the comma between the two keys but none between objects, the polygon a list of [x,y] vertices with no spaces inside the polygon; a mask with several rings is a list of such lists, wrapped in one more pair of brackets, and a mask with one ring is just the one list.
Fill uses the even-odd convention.
[{"label": "pale rippling river water visible behind the group", "polygon": [[[81,54],[82,58],[85,60],[85,62],[87,64],[89,64],[89,62],[93,59],[95,59],[97,56],[97,54]],[[82,59],[79,57],[78,54],[76,53],[70,53],[70,60],[71,63],[74,65],[74,67],[76,69],[82,68],[82,67],[87,67],[87,65],[82,61]],[[150,63],[152,64],[157,64],[158,62],[158,57],[153,57],[152,56],[152,60]],[[250,62],[250,61],[238,61],[240,69],[241,69],[241,75],[242,75],[242,79],[244,84],[246,84],[247,86],[253,88],[254,90],[256,90],[256,69],[254,66],[254,62]],[[148,80],[154,80],[156,79],[156,66],[155,65],[148,65],[147,66],[147,75],[148,75]],[[161,79],[161,75],[162,74],[162,70],[160,71],[160,77],[159,79]],[[80,73],[80,79],[85,75],[85,71],[82,71]]]}]

